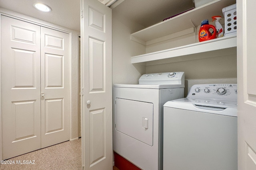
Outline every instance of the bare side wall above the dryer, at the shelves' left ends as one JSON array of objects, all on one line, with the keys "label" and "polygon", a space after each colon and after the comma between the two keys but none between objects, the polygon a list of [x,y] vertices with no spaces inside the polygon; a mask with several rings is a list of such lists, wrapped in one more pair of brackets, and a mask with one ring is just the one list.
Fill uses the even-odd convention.
[{"label": "bare side wall above the dryer, at the shelves' left ends", "polygon": [[146,52],[146,47],[130,40],[130,34],[140,29],[141,25],[126,20],[112,10],[112,75],[113,84],[137,84],[145,66],[131,64],[131,57]]}]

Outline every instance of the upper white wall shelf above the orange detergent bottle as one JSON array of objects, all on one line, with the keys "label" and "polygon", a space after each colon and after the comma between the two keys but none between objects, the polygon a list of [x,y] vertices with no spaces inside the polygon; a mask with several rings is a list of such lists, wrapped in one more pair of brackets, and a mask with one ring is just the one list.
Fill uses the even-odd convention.
[{"label": "upper white wall shelf above the orange detergent bottle", "polygon": [[211,20],[212,16],[222,16],[222,8],[235,4],[236,0],[214,0],[208,4],[162,21],[131,34],[131,39],[146,45],[147,41],[170,35],[201,24],[202,20]]}]

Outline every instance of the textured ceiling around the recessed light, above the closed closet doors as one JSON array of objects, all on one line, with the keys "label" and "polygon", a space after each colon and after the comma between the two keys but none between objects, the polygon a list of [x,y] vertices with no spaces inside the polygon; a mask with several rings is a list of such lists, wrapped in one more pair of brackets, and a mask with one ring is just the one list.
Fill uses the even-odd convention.
[{"label": "textured ceiling around the recessed light, above the closed closet doors", "polygon": [[[41,12],[33,4],[50,6],[52,12]],[[80,0],[0,0],[0,7],[80,32]]]}]

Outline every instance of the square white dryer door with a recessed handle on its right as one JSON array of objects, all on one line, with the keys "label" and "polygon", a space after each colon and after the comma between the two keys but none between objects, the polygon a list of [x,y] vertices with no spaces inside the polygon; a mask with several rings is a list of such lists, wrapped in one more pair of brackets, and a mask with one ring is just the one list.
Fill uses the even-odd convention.
[{"label": "square white dryer door with a recessed handle on its right", "polygon": [[153,104],[116,98],[116,130],[153,146]]}]

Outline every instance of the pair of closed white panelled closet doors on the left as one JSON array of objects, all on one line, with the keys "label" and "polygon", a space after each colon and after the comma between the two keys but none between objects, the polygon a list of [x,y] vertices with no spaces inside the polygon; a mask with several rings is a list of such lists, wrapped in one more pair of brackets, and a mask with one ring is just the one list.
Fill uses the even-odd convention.
[{"label": "pair of closed white panelled closet doors on the left", "polygon": [[3,159],[69,140],[69,35],[1,16]]}]

